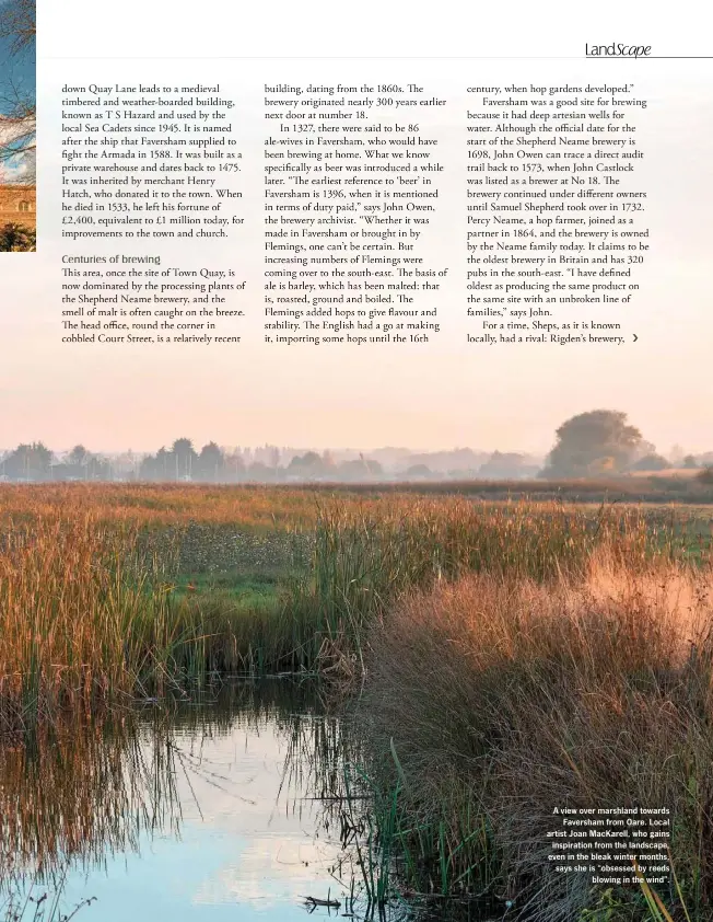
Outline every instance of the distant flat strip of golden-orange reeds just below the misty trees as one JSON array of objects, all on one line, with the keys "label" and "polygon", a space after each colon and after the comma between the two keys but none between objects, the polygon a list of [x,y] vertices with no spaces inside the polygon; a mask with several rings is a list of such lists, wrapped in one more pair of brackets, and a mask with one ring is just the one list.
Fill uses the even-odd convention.
[{"label": "distant flat strip of golden-orange reeds just below the misty trees", "polygon": [[[661,479],[654,477],[657,484]],[[503,503],[596,509],[603,504],[636,507],[646,503],[647,516],[665,518],[676,504],[677,518],[711,539],[711,497],[667,494],[665,489],[642,496],[640,479],[630,479],[629,488],[612,481],[551,483],[465,481],[422,484],[338,484],[296,485],[242,484],[147,484],[147,483],[43,483],[0,484],[0,528],[10,520],[34,516],[92,512],[104,521],[124,521],[145,527],[184,526],[196,522],[239,527],[243,531],[299,532],[314,529],[322,509],[332,500],[354,511],[378,515],[384,505],[422,502],[467,500],[475,505]],[[687,483],[687,482],[685,482]]]}]

